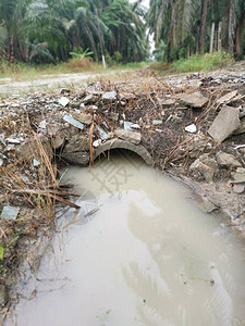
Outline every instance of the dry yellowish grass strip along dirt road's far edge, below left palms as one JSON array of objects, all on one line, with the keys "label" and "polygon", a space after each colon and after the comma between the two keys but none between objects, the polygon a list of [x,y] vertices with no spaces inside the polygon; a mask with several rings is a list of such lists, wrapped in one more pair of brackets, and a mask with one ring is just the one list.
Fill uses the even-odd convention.
[{"label": "dry yellowish grass strip along dirt road's far edge, below left palms", "polygon": [[[110,70],[122,70],[122,68],[140,68],[145,67],[146,63],[127,63],[119,64],[111,67]],[[45,65],[28,65],[26,63],[16,63],[10,64],[7,61],[0,63],[0,84],[1,78],[11,78],[13,80],[32,80],[36,78],[41,78],[44,75],[57,75],[57,74],[72,74],[72,73],[86,73],[103,72],[102,64],[93,62],[91,60],[84,58],[73,58],[68,62],[54,64],[45,64]]]}]

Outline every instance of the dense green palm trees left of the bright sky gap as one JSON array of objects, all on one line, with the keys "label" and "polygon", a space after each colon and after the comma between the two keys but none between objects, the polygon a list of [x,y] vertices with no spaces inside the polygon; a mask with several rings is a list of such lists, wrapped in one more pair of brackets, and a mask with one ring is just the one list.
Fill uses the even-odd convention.
[{"label": "dense green palm trees left of the bright sky gap", "polygon": [[108,52],[115,62],[140,61],[144,15],[130,0],[0,0],[0,55],[39,64]]}]

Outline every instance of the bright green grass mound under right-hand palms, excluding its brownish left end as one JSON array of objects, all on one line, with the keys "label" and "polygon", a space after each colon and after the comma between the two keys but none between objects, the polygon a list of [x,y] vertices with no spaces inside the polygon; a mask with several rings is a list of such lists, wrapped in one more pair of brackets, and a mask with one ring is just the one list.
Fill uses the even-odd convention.
[{"label": "bright green grass mound under right-hand palms, excluding its brownish left end", "polygon": [[232,62],[231,54],[226,52],[216,52],[212,54],[199,55],[195,54],[188,59],[181,59],[172,64],[172,68],[176,72],[197,72],[209,71],[211,68],[220,67]]}]

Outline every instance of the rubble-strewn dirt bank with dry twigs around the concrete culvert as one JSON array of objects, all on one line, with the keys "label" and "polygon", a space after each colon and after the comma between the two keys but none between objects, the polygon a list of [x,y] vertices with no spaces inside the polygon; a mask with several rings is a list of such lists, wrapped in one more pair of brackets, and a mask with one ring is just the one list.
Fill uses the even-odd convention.
[{"label": "rubble-strewn dirt bank with dry twigs around the concrete culvert", "polygon": [[93,165],[108,141],[144,149],[148,164],[191,187],[206,212],[219,212],[245,235],[244,76],[244,63],[168,77],[144,71],[2,100],[0,304],[23,255],[35,264],[29,246],[54,226],[54,203],[76,208],[59,167]]}]

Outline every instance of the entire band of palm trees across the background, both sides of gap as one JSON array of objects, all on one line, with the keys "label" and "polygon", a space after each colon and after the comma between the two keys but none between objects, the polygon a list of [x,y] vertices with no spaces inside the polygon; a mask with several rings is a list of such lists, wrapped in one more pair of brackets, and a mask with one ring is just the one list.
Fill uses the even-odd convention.
[{"label": "entire band of palm trees across the background, both sides of gap", "polygon": [[[245,0],[0,0],[0,60],[5,63],[58,64],[77,59],[109,65],[149,59],[149,35],[155,58],[172,62],[210,51],[216,55],[245,54]],[[221,51],[222,49],[222,51]],[[197,55],[198,54],[198,55]],[[90,59],[89,59],[90,58]],[[82,64],[84,65],[84,63]],[[177,66],[177,65],[176,65]]]}]

